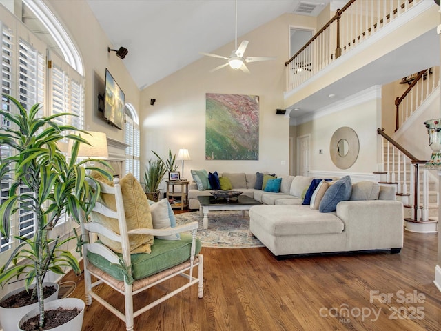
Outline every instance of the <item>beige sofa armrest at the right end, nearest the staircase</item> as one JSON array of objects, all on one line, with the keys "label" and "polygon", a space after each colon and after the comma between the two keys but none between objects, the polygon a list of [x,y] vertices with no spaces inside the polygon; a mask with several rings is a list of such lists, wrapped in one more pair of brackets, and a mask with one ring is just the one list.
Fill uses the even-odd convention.
[{"label": "beige sofa armrest at the right end, nearest the staircase", "polygon": [[342,201],[336,215],[345,223],[351,250],[402,248],[404,210],[401,201]]}]

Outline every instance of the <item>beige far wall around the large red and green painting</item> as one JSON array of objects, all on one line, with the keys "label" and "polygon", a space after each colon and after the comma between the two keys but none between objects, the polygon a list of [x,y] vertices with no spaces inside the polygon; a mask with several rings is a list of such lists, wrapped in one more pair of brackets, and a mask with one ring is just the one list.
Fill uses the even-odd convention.
[{"label": "beige far wall around the large red and green painting", "polygon": [[[238,39],[248,40],[245,56],[275,56],[274,61],[248,63],[251,74],[231,68],[209,70],[225,63],[201,57],[198,61],[141,91],[141,165],[152,150],[166,156],[169,148],[186,147],[192,157],[185,162],[184,177],[191,169],[218,172],[271,171],[289,173],[289,119],[276,115],[283,108],[285,66],[289,56],[289,26],[315,28],[315,18],[285,14]],[[228,56],[234,41],[212,51]],[[205,160],[205,93],[252,94],[260,97],[258,161]],[[150,106],[150,99],[156,99]],[[282,164],[285,163],[285,164]],[[179,168],[181,171],[181,167]]]}]

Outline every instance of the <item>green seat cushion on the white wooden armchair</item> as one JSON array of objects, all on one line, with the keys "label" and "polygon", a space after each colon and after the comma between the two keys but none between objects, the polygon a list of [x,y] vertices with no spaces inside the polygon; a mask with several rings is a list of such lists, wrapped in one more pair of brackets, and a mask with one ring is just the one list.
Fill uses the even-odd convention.
[{"label": "green seat cushion on the white wooden armchair", "polygon": [[[154,239],[150,254],[132,254],[132,277],[143,279],[174,265],[187,261],[191,255],[192,235],[181,234],[181,240]],[[201,241],[196,238],[196,253],[201,252]],[[118,254],[122,258],[122,254]],[[124,281],[123,267],[113,264],[99,254],[88,252],[90,263],[119,281]]]}]

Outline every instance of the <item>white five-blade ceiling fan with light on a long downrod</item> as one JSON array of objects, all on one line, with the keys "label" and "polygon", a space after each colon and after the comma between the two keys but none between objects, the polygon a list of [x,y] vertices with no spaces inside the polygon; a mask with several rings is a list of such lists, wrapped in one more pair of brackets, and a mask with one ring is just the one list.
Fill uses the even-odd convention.
[{"label": "white five-blade ceiling fan with light on a long downrod", "polygon": [[212,70],[209,70],[209,72],[214,72],[216,70],[219,70],[223,67],[230,66],[231,68],[237,70],[240,69],[243,72],[246,72],[249,74],[249,70],[245,63],[251,63],[251,62],[257,62],[257,61],[268,61],[268,60],[274,60],[276,57],[244,57],[243,54],[245,53],[245,50],[247,49],[248,41],[243,40],[239,47],[237,47],[237,0],[236,0],[236,35],[235,35],[235,50],[232,51],[232,54],[229,55],[229,57],[224,57],[222,55],[217,54],[211,54],[211,53],[204,53],[200,52],[199,54],[206,55],[207,57],[217,57],[219,59],[225,59],[227,60],[227,63],[224,63],[216,68],[213,68]]}]

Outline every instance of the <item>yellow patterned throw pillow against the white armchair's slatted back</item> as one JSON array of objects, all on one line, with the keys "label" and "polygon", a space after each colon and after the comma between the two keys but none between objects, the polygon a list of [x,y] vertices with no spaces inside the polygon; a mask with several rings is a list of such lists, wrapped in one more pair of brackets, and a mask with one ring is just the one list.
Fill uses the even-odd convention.
[{"label": "yellow patterned throw pillow against the white armchair's slatted back", "polygon": [[[91,174],[92,177],[113,186],[114,183],[103,179],[99,174]],[[152,229],[152,214],[150,213],[150,205],[145,196],[145,192],[139,181],[133,174],[127,174],[119,181],[121,185],[121,192],[123,194],[123,204],[125,211],[125,222],[127,223],[127,230],[137,228]],[[113,194],[101,194],[101,202],[112,210],[116,210],[116,201]],[[102,214],[92,212],[92,219],[97,223],[106,225],[112,231],[119,234],[119,223],[116,219],[105,217]],[[121,243],[99,236],[99,239],[104,245],[117,253],[121,253]],[[150,253],[152,252],[150,246],[153,245],[154,237],[147,234],[131,234],[129,236],[130,252],[136,253]]]}]

